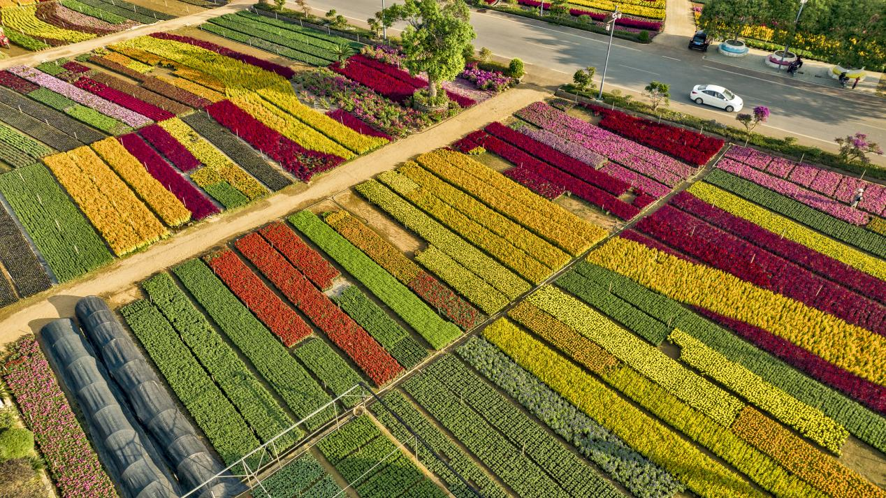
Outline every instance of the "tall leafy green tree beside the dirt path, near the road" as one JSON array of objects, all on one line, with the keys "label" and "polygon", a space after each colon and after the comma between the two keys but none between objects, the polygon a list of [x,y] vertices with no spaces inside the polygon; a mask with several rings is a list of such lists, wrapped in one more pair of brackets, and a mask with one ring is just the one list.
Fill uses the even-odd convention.
[{"label": "tall leafy green tree beside the dirt path, near the road", "polygon": [[464,70],[465,53],[473,53],[477,37],[470,10],[462,0],[406,0],[385,9],[387,22],[406,21],[401,40],[409,74],[428,74],[428,97],[437,98],[440,82]]}]

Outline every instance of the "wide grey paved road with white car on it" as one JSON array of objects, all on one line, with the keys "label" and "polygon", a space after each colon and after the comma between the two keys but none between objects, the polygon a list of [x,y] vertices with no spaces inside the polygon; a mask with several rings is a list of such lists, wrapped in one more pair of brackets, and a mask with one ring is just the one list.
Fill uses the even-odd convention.
[{"label": "wide grey paved road with white car on it", "polygon": [[[310,0],[315,9],[336,9],[352,20],[364,21],[381,8],[381,0]],[[391,0],[387,1],[391,4]],[[292,6],[292,5],[290,5]],[[477,32],[475,45],[488,47],[496,55],[522,58],[559,74],[563,82],[579,67],[595,66],[602,73],[608,38],[556,27],[534,19],[517,18],[488,11],[471,12]],[[772,115],[758,131],[781,136],[803,137],[804,143],[832,149],[834,138],[861,131],[886,146],[886,99],[867,93],[835,88],[835,82],[822,84],[785,78],[761,67],[760,71],[723,64],[699,51],[688,51],[687,39],[659,35],[656,43],[641,45],[618,38],[612,44],[607,89],[641,91],[651,80],[671,84],[675,105],[703,118],[738,125],[722,111],[696,106],[688,101],[693,85],[715,83],[732,89],[744,98],[745,107],[766,105]],[[769,128],[769,129],[766,129]],[[882,157],[876,162],[882,162]]]}]

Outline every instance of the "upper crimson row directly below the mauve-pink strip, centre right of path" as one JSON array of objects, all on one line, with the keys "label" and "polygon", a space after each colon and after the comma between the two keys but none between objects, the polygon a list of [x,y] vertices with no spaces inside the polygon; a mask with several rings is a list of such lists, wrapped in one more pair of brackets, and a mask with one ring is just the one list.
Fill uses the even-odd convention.
[{"label": "upper crimson row directly below the mauve-pink strip, centre right of path", "polygon": [[579,180],[590,183],[595,187],[599,187],[604,191],[610,192],[612,195],[620,196],[631,187],[627,182],[618,180],[618,178],[613,178],[601,171],[597,171],[594,167],[571,156],[567,156],[563,152],[557,151],[547,144],[542,144],[531,136],[525,136],[519,131],[508,128],[500,122],[491,123],[484,129],[486,130],[486,133],[498,136],[501,140],[522,149],[526,153],[532,155],[532,157],[543,160],[551,166],[558,167],[566,173],[579,178]]}]

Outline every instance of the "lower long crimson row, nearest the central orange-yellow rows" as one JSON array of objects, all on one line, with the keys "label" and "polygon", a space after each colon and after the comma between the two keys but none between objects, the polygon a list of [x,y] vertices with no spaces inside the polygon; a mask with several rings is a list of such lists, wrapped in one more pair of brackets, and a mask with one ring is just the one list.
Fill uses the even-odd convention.
[{"label": "lower long crimson row, nearest the central orange-yellow rows", "polygon": [[487,151],[494,152],[515,165],[532,171],[532,173],[548,180],[550,183],[560,185],[567,191],[571,191],[573,194],[579,196],[579,198],[583,198],[595,206],[600,206],[623,220],[630,220],[633,216],[640,213],[640,210],[635,206],[627,204],[625,201],[616,198],[609,192],[602,191],[602,189],[589,183],[585,183],[575,176],[569,175],[556,167],[548,165],[548,163],[537,160],[526,152],[517,149],[517,147],[508,144],[495,136],[486,136],[480,140],[479,144],[481,144]]}]

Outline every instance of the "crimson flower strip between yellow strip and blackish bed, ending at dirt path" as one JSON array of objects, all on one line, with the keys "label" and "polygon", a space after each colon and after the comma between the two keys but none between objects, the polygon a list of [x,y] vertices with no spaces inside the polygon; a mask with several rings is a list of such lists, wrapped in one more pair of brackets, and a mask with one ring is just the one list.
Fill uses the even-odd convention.
[{"label": "crimson flower strip between yellow strip and blackish bed, ending at dirt path", "polygon": [[307,182],[315,174],[337,167],[345,161],[334,154],[307,150],[281,135],[276,129],[256,120],[229,100],[208,105],[206,112],[255,149],[268,154],[268,157],[283,165],[302,182]]}]

